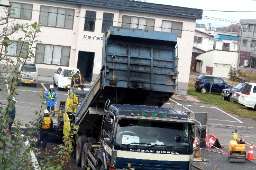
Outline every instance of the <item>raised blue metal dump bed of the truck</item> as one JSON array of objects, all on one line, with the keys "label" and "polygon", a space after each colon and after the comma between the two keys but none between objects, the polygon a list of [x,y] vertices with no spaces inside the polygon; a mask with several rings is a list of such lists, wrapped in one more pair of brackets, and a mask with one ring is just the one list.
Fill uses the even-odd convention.
[{"label": "raised blue metal dump bed of the truck", "polygon": [[110,27],[104,34],[102,69],[77,109],[137,104],[162,106],[175,93],[177,34]]}]

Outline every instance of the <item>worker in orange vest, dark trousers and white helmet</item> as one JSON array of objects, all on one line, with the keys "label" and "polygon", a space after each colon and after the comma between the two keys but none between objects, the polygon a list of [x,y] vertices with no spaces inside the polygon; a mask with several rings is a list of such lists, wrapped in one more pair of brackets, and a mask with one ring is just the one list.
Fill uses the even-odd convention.
[{"label": "worker in orange vest, dark trousers and white helmet", "polygon": [[49,133],[51,133],[52,129],[52,119],[49,116],[49,111],[45,110],[43,111],[43,120],[41,122],[41,127],[40,127],[40,133],[38,136],[38,141],[36,141],[35,146],[39,148],[41,142],[43,142],[43,151],[45,151],[45,147],[47,146],[47,139],[49,136]]}]

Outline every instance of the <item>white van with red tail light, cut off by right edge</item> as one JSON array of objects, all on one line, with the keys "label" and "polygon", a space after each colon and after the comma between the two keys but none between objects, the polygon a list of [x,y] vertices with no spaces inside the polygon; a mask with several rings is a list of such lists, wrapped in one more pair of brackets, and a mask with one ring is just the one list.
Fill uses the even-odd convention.
[{"label": "white van with red tail light, cut off by right edge", "polygon": [[256,83],[246,83],[241,88],[239,104],[249,108],[254,108],[256,111]]}]

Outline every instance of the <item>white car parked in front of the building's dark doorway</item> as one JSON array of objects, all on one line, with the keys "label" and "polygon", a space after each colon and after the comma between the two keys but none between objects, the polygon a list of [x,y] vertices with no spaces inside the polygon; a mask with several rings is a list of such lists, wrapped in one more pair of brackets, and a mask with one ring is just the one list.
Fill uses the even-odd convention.
[{"label": "white car parked in front of the building's dark doorway", "polygon": [[54,72],[53,85],[58,86],[58,90],[64,87],[70,88],[72,71],[80,72],[79,69],[75,67],[59,67],[58,71]]}]

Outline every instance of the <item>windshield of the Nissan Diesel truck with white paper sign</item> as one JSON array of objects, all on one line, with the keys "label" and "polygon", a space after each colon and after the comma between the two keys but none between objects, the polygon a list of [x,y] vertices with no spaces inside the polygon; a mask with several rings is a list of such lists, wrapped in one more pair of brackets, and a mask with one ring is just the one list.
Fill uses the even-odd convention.
[{"label": "windshield of the Nissan Diesel truck with white paper sign", "polygon": [[192,125],[121,119],[117,124],[116,144],[191,146]]}]

